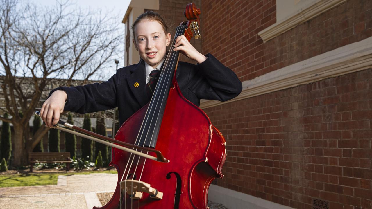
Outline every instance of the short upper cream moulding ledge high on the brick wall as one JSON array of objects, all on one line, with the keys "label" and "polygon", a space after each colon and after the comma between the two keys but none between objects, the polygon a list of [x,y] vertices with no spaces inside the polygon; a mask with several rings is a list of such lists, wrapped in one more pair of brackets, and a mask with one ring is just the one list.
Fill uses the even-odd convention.
[{"label": "short upper cream moulding ledge high on the brick wall", "polygon": [[282,33],[304,23],[325,11],[336,7],[337,5],[343,3],[346,0],[319,0],[317,3],[312,4],[304,10],[298,10],[285,20],[277,22],[269,27],[258,32],[261,36],[263,42],[269,41],[270,39],[279,36]]}]

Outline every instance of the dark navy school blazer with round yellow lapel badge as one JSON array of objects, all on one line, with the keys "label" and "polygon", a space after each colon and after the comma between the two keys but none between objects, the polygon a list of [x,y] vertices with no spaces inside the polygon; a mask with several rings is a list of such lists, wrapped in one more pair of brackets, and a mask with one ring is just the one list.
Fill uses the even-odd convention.
[{"label": "dark navy school blazer with round yellow lapel badge", "polygon": [[[200,105],[200,99],[226,101],[232,99],[242,90],[237,75],[225,67],[211,54],[201,64],[179,62],[176,79],[183,96]],[[85,86],[58,87],[67,93],[64,110],[80,114],[98,112],[119,107],[119,122],[126,119],[149,102],[146,93],[145,64],[139,63],[119,68],[116,74],[103,83]],[[135,87],[134,84],[139,86]]]}]

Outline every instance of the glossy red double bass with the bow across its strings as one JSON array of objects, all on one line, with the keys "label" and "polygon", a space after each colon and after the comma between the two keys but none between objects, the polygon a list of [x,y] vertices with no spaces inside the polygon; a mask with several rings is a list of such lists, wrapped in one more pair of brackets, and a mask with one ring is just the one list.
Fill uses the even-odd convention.
[{"label": "glossy red double bass with the bow across its strings", "polygon": [[[200,36],[200,9],[187,4],[184,15],[187,21],[176,28],[172,47],[180,35],[188,41]],[[206,113],[182,96],[176,80],[179,53],[169,51],[150,102],[123,123],[115,139],[59,122],[114,142],[104,144],[113,147],[109,165],[118,171],[118,183],[102,209],[208,208],[209,185],[223,177],[225,139]]]}]

